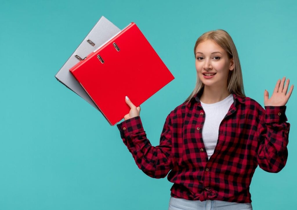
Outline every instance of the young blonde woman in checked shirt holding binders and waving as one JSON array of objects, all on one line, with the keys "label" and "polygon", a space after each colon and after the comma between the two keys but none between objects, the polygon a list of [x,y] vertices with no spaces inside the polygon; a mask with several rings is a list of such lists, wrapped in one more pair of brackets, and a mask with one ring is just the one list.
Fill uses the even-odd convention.
[{"label": "young blonde woman in checked shirt holding binders and waving", "polygon": [[164,178],[170,171],[169,209],[252,209],[256,167],[277,173],[287,162],[285,104],[293,86],[287,93],[284,77],[270,98],[265,90],[265,109],[246,97],[237,50],[224,30],[199,37],[194,55],[195,89],[166,117],[160,145],[150,144],[140,106],[127,96],[131,110],[117,124],[121,138],[145,174]]}]

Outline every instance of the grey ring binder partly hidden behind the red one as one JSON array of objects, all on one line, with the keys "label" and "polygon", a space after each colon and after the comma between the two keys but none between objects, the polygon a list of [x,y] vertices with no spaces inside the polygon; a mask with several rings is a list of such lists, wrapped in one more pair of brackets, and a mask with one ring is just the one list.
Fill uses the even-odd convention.
[{"label": "grey ring binder partly hidden behind the red one", "polygon": [[95,26],[91,29],[89,34],[80,43],[78,48],[72,53],[69,59],[64,63],[64,65],[55,75],[56,79],[59,82],[61,82],[70,90],[85,99],[96,109],[98,109],[98,107],[94,104],[83,87],[81,87],[81,85],[69,72],[69,69],[77,64],[80,60],[83,60],[88,54],[97,49],[99,46],[101,46],[103,43],[108,41],[111,37],[113,37],[120,31],[121,30],[118,27],[116,27],[112,22],[102,16],[95,24]]}]

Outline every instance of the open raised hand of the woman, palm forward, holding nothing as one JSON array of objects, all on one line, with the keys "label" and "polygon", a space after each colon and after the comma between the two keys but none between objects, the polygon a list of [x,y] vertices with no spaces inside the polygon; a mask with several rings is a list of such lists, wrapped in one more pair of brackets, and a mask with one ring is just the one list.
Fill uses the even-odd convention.
[{"label": "open raised hand of the woman, palm forward, holding nothing", "polygon": [[286,77],[284,76],[281,79],[277,80],[277,84],[275,85],[274,91],[271,97],[268,99],[268,91],[264,91],[264,106],[284,106],[286,105],[287,101],[289,100],[291,93],[293,91],[294,85],[291,85],[289,92],[287,93],[288,86],[290,80],[287,79],[286,85],[285,84]]}]

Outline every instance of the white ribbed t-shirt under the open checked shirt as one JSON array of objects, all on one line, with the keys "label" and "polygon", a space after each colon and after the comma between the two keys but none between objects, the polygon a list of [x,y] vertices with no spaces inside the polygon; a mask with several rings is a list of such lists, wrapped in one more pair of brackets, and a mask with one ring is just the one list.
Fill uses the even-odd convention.
[{"label": "white ribbed t-shirt under the open checked shirt", "polygon": [[222,101],[214,104],[204,104],[201,106],[205,112],[205,122],[202,128],[202,138],[207,152],[208,160],[214,153],[219,137],[219,125],[227,114],[231,104],[233,104],[232,93]]}]

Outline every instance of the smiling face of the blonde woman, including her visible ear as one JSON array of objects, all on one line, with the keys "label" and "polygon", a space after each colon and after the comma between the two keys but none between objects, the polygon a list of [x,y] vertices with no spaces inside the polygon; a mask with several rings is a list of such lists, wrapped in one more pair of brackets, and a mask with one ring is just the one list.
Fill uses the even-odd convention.
[{"label": "smiling face of the blonde woman, including her visible ear", "polygon": [[[201,82],[206,86],[226,87],[229,71],[234,69],[233,58],[229,59],[227,52],[213,40],[199,43],[195,53],[195,66]],[[204,73],[215,75],[207,78]]]}]

